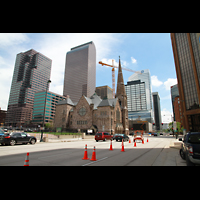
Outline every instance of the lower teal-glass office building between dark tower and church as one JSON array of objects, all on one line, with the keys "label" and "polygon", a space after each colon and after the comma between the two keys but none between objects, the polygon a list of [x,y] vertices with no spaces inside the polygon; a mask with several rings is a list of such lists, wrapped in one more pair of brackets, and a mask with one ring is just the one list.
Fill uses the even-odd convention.
[{"label": "lower teal-glass office building between dark tower and church", "polygon": [[[42,125],[43,123],[45,97],[46,97],[46,90],[36,92],[34,95],[33,117],[32,117],[32,123],[34,124]],[[54,121],[56,104],[59,101],[65,99],[66,97],[62,95],[47,91],[44,123],[49,123]]]}]

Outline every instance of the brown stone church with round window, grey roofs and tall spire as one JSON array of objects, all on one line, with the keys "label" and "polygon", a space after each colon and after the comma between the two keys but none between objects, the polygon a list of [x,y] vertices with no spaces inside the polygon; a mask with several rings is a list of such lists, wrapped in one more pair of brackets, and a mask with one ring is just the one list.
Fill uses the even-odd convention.
[{"label": "brown stone church with round window, grey roofs and tall spire", "polygon": [[129,134],[127,96],[119,59],[117,93],[114,99],[101,99],[96,93],[82,95],[78,102],[70,97],[56,105],[54,127],[81,132]]}]

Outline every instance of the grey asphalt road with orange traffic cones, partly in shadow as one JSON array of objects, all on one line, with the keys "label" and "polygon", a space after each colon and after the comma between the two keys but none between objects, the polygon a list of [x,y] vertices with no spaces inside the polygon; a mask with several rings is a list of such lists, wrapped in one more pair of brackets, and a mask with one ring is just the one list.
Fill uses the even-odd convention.
[{"label": "grey asphalt road with orange traffic cones, partly in shadow", "polygon": [[[124,142],[125,152],[121,152],[121,142],[116,141],[112,143],[113,151],[109,151],[110,141],[94,140],[0,146],[0,166],[23,166],[27,152],[30,166],[186,166],[178,149],[169,148],[171,136],[148,139],[147,143],[145,137],[145,143],[137,143],[137,147]],[[89,158],[96,147],[97,161],[82,160],[85,144]]]}]

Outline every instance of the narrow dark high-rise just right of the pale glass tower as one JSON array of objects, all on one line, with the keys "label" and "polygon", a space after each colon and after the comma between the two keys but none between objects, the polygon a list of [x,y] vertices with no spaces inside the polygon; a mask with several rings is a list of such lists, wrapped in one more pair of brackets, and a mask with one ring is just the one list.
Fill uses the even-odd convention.
[{"label": "narrow dark high-rise just right of the pale glass tower", "polygon": [[154,107],[154,121],[155,121],[155,130],[162,129],[162,119],[161,119],[161,108],[160,108],[160,96],[158,92],[153,92],[153,107]]}]

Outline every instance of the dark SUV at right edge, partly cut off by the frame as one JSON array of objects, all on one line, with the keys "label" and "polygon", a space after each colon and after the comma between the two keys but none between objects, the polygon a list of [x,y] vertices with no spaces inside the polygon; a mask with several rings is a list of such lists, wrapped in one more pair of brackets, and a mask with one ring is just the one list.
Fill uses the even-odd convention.
[{"label": "dark SUV at right edge, partly cut off by the frame", "polygon": [[180,156],[187,166],[200,165],[200,132],[189,132],[184,136]]}]

